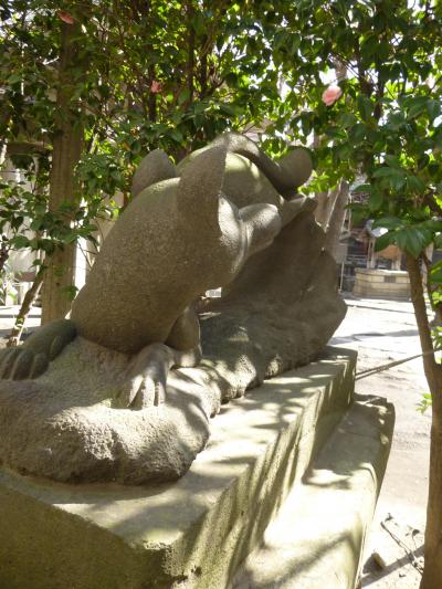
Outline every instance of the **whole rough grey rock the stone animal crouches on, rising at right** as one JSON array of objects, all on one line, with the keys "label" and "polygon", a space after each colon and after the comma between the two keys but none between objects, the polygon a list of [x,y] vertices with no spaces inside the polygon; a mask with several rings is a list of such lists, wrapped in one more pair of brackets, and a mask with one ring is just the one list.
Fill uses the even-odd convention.
[{"label": "whole rough grey rock the stone animal crouches on, rising at right", "polygon": [[314,359],[344,317],[323,239],[303,213],[251,259],[201,317],[200,366],[172,370],[159,407],[115,408],[130,358],[83,338],[36,380],[0,381],[4,464],[73,482],[182,475],[204,448],[221,401]]}]

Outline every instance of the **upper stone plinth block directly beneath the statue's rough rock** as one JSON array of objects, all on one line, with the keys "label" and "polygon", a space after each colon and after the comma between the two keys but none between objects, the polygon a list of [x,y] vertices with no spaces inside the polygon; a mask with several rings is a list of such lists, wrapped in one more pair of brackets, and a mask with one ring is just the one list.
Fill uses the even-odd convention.
[{"label": "upper stone plinth block directly beneath the statue's rough rock", "polygon": [[208,448],[172,484],[64,485],[3,469],[0,586],[224,589],[346,411],[355,362],[328,348],[223,407]]}]

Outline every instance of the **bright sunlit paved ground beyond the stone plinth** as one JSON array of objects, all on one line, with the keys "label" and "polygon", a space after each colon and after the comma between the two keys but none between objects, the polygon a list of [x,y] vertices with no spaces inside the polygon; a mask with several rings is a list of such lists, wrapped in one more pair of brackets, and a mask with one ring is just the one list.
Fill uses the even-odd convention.
[{"label": "bright sunlit paved ground beyond the stone plinth", "polygon": [[[358,371],[419,354],[412,306],[406,302],[347,297],[348,313],[333,343],[359,350]],[[0,347],[17,307],[0,307]],[[39,324],[40,309],[28,322]],[[3,338],[3,339],[2,339]],[[427,391],[421,359],[357,381],[361,395],[387,397],[397,422],[386,478],[370,538],[362,587],[418,588],[428,493],[430,412],[417,411]],[[371,556],[375,553],[375,558]],[[414,559],[414,565],[411,564]],[[376,561],[381,562],[379,567]]]}]

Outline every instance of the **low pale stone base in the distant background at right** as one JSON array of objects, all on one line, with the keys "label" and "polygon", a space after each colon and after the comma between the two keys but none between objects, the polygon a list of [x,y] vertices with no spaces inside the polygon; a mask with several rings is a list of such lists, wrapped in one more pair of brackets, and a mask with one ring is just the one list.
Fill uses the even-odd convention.
[{"label": "low pale stone base in the distant background at right", "polygon": [[352,293],[367,298],[389,298],[392,301],[410,298],[408,273],[400,270],[356,270]]}]

